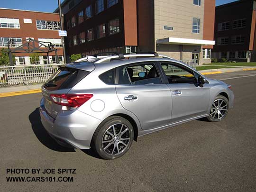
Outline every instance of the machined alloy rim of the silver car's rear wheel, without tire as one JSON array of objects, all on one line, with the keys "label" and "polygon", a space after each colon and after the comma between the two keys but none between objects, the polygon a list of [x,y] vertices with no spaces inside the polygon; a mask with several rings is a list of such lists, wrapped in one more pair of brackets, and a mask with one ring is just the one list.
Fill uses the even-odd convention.
[{"label": "machined alloy rim of the silver car's rear wheel, without tire", "polygon": [[102,138],[102,148],[109,155],[119,155],[129,145],[131,134],[126,125],[122,123],[110,126]]}]

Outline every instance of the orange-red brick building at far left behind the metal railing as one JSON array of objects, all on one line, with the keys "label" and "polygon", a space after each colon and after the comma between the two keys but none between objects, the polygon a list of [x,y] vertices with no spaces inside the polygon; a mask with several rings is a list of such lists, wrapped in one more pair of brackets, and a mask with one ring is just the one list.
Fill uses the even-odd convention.
[{"label": "orange-red brick building at far left behind the metal railing", "polygon": [[[46,46],[51,42],[57,49],[58,61],[63,62],[63,48],[58,35],[60,28],[59,14],[0,8],[0,49],[8,48],[8,41],[13,49],[25,43],[27,38],[32,38],[45,42]],[[55,52],[49,55],[50,63],[56,63]],[[40,54],[39,60],[31,61],[29,53],[17,53],[15,60],[17,65],[47,64],[47,55]]]}]

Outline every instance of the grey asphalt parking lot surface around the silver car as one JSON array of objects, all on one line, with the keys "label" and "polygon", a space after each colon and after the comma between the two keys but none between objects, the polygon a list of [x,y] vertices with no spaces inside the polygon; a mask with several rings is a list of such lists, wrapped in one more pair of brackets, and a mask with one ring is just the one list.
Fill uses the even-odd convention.
[{"label": "grey asphalt parking lot surface around the silver car", "polygon": [[[0,191],[255,192],[256,71],[209,77],[232,84],[235,103],[226,119],[139,137],[111,161],[55,143],[40,123],[40,93],[0,98]],[[7,182],[7,176],[27,176],[7,168],[73,168],[76,174],[73,182]]]}]

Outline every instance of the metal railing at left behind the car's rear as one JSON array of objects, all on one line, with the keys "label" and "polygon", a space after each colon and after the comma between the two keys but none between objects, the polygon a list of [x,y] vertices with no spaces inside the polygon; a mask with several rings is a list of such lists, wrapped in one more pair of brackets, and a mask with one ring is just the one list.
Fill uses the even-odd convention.
[{"label": "metal railing at left behind the car's rear", "polygon": [[63,64],[16,65],[0,67],[0,87],[46,82]]}]

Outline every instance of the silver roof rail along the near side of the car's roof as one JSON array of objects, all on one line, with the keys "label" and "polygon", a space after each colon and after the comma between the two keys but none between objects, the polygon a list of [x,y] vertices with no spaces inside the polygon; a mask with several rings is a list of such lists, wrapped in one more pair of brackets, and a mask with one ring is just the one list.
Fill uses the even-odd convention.
[{"label": "silver roof rail along the near side of the car's roof", "polygon": [[[126,57],[155,57],[155,54],[128,54],[128,55],[113,55],[113,56],[105,56],[104,58],[98,60],[95,62],[95,64],[101,64],[104,62],[110,62],[111,59],[124,59]],[[163,58],[168,58],[168,59],[173,59],[171,57],[165,56],[165,55],[157,55],[159,57],[163,57]]]}]

